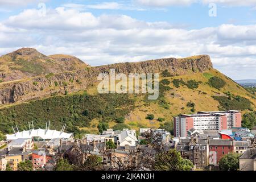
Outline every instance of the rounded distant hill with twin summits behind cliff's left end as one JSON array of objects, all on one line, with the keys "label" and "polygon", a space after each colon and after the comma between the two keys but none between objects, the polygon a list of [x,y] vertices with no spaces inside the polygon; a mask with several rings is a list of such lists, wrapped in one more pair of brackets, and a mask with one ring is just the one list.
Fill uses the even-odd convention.
[{"label": "rounded distant hill with twin summits behind cliff's left end", "polygon": [[0,57],[0,82],[72,71],[87,66],[75,56],[46,56],[34,48],[21,48]]}]

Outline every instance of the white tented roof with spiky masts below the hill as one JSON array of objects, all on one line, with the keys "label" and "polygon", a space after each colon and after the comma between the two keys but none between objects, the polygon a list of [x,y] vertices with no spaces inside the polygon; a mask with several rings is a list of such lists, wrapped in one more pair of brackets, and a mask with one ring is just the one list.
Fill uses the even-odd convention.
[{"label": "white tented roof with spiky masts below the hill", "polygon": [[72,133],[64,133],[56,130],[27,130],[17,132],[16,134],[6,135],[7,140],[14,140],[19,138],[32,138],[32,137],[40,137],[42,139],[54,139],[54,138],[70,138]]}]

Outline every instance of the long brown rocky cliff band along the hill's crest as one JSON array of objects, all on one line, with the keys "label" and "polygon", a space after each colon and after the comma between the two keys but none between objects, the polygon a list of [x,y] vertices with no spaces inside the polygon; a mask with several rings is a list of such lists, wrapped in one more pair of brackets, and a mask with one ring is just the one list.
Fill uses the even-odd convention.
[{"label": "long brown rocky cliff band along the hill's crest", "polygon": [[97,82],[100,73],[109,75],[110,69],[116,73],[161,73],[168,70],[173,75],[204,72],[212,68],[207,55],[184,59],[158,59],[137,63],[118,63],[79,69],[51,76],[38,76],[26,80],[3,82],[0,84],[0,105],[43,98],[51,94],[76,92]]}]

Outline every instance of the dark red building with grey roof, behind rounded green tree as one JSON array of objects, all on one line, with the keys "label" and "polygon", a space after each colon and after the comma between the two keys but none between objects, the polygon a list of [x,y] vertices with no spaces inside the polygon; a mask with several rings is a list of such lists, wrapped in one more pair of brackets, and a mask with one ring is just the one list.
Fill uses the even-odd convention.
[{"label": "dark red building with grey roof, behind rounded green tree", "polygon": [[233,140],[209,139],[209,164],[217,166],[222,156],[233,151]]}]

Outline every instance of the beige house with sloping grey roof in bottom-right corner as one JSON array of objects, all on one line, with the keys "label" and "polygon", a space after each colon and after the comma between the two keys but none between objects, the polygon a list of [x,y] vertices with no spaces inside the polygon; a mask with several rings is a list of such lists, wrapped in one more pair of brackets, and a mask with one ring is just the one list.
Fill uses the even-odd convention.
[{"label": "beige house with sloping grey roof in bottom-right corner", "polygon": [[239,158],[240,171],[256,171],[256,148],[247,149]]}]

